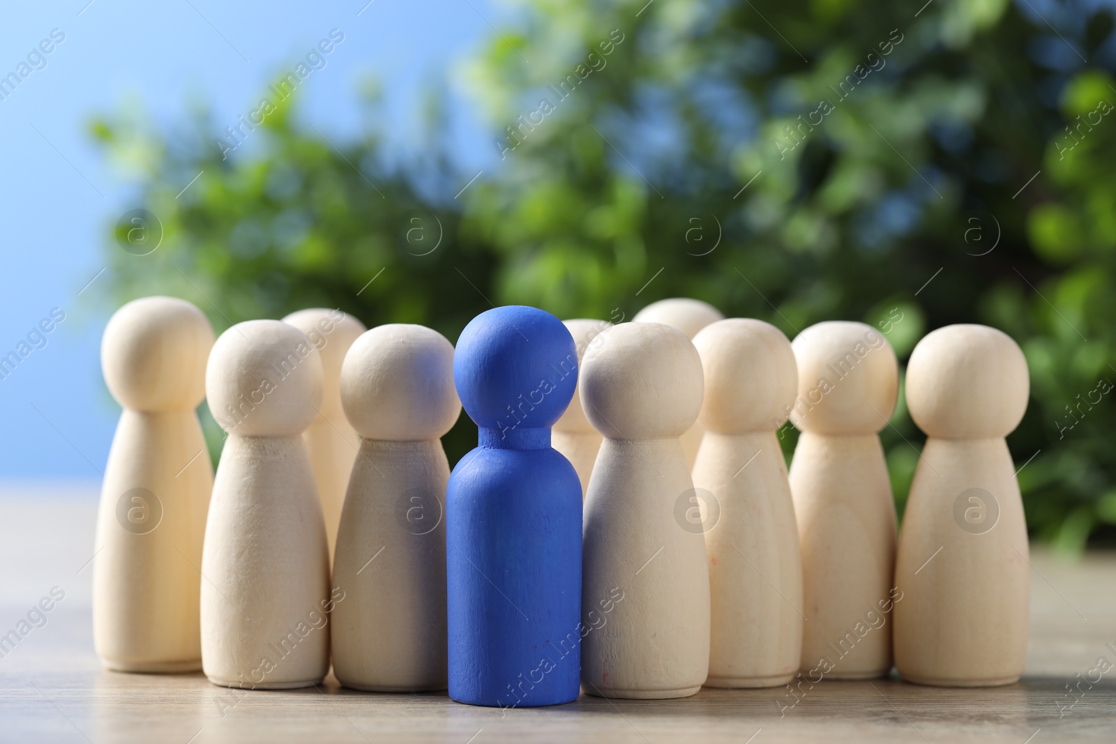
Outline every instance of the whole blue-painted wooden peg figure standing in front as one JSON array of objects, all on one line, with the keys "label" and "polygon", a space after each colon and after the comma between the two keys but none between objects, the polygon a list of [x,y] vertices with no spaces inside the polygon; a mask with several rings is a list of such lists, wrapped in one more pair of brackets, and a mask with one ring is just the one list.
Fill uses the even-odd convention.
[{"label": "whole blue-painted wooden peg figure standing in front", "polygon": [[581,666],[581,486],[550,426],[577,384],[574,339],[542,310],[489,310],[458,339],[453,378],[480,446],[445,499],[450,697],[569,703]]}]

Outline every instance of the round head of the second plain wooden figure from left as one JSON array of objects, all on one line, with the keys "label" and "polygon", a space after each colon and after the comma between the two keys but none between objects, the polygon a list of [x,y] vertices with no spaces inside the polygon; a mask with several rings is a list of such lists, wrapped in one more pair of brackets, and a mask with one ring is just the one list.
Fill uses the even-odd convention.
[{"label": "round head of the second plain wooden figure from left", "polygon": [[205,368],[210,412],[241,436],[298,436],[321,407],[321,359],[306,334],[248,320],[221,334]]}]

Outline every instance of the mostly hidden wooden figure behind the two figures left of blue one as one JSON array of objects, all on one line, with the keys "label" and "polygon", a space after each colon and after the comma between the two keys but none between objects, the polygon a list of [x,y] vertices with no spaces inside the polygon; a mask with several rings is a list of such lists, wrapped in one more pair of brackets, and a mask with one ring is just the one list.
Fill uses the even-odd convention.
[{"label": "mostly hidden wooden figure behind the two figures left of blue one", "polygon": [[341,409],[341,363],[365,327],[353,316],[325,308],[299,310],[282,321],[306,334],[321,359],[321,405],[314,423],[302,433],[302,439],[310,454],[310,464],[314,465],[314,480],[318,486],[318,499],[321,500],[326,539],[329,541],[329,557],[333,560],[341,504],[345,502],[357,447],[360,446],[360,437]]}]

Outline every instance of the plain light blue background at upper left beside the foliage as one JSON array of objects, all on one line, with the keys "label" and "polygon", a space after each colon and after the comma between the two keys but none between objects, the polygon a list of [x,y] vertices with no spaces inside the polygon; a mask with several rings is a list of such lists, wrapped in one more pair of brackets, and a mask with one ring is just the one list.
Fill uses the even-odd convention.
[{"label": "plain light blue background at upper left beside the foliage", "polygon": [[[356,88],[371,73],[383,86],[385,129],[398,147],[417,146],[408,135],[419,129],[423,81],[479,48],[489,22],[500,26],[510,10],[498,0],[365,1],[37,0],[0,9],[0,77],[52,29],[66,35],[47,66],[0,100],[0,356],[52,308],[66,313],[47,346],[0,380],[0,481],[99,480],[119,415],[100,378],[112,308],[83,287],[105,265],[110,225],[136,204],[94,146],[90,118],[135,98],[161,124],[184,119],[198,100],[215,122],[233,122],[278,69],[338,28],[344,44],[299,88],[300,116],[335,142],[355,135]],[[452,91],[449,108],[454,156],[463,166],[493,160],[468,99]]]}]

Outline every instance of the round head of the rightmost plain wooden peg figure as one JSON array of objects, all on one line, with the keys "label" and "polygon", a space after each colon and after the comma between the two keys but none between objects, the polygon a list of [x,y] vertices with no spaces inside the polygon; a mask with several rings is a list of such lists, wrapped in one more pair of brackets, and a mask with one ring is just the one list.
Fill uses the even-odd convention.
[{"label": "round head of the rightmost plain wooden peg figure", "polygon": [[1029,396],[1022,350],[1010,336],[988,326],[931,331],[907,363],[907,408],[927,436],[1007,436],[1022,421]]}]

